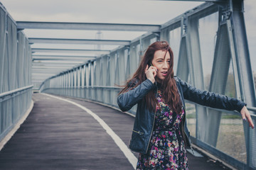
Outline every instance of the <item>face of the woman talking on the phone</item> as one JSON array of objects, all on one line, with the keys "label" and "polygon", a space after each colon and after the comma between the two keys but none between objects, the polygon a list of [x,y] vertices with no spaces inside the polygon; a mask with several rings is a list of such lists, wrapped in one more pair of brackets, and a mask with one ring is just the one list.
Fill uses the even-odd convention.
[{"label": "face of the woman talking on the phone", "polygon": [[156,80],[163,81],[165,79],[170,67],[170,58],[169,51],[157,50],[154,53],[152,64],[157,69]]}]

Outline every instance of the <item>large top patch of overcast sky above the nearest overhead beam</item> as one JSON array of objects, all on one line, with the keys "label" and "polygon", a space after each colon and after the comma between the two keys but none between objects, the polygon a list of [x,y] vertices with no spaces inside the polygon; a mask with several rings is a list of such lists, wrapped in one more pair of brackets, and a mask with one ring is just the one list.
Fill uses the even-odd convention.
[{"label": "large top patch of overcast sky above the nearest overhead beam", "polygon": [[161,24],[202,2],[1,0],[16,21]]}]

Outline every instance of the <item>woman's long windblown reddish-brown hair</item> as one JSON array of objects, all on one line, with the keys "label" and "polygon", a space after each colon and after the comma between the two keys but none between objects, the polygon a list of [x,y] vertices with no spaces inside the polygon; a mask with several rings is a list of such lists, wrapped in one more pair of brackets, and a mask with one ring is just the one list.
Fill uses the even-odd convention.
[{"label": "woman's long windblown reddish-brown hair", "polygon": [[[154,58],[154,53],[157,50],[163,50],[169,52],[170,54],[170,67],[167,72],[166,78],[164,79],[161,85],[164,101],[168,103],[169,106],[171,106],[171,109],[173,111],[175,111],[176,113],[181,113],[181,99],[178,94],[176,81],[174,79],[174,53],[172,52],[171,47],[169,47],[169,44],[166,41],[156,41],[149,45],[144,54],[144,57],[142,58],[142,62],[139,64],[139,68],[134,73],[132,79],[129,79],[127,81],[127,84],[124,86],[124,89],[122,89],[122,91],[120,91],[119,94],[131,90],[130,85],[134,84],[134,82],[136,82],[136,84],[132,89],[134,89],[136,86],[138,86],[147,79],[145,74],[146,65],[152,62]],[[149,91],[149,93],[146,94],[143,101],[146,102],[146,106],[149,108],[149,110],[155,111],[156,96],[153,90]]]}]

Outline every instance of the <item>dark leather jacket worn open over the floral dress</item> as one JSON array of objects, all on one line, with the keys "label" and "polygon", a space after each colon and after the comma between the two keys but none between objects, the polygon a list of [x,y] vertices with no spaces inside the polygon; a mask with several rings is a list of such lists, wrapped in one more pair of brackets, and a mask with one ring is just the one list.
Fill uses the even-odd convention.
[{"label": "dark leather jacket worn open over the floral dress", "polygon": [[[181,96],[184,109],[184,99],[193,101],[194,103],[198,103],[203,106],[220,108],[228,111],[236,110],[240,112],[242,107],[246,105],[236,98],[229,98],[227,96],[215,94],[213,92],[196,89],[178,77],[174,77],[174,79],[176,80],[178,92]],[[130,84],[130,87],[132,88],[135,85],[136,83]],[[132,140],[130,141],[129,148],[134,152],[140,152],[144,154],[146,154],[149,148],[149,142],[154,128],[155,113],[153,111],[149,111],[146,105],[142,103],[142,100],[144,96],[146,96],[146,94],[151,90],[156,92],[157,87],[149,79],[146,79],[136,88],[129,90],[124,94],[120,94],[117,98],[117,103],[121,111],[129,111],[132,106],[137,104],[137,113],[134,121]],[[181,132],[186,147],[191,147],[190,133],[186,125],[186,111],[185,116],[181,121]]]}]

